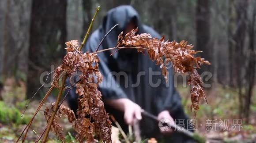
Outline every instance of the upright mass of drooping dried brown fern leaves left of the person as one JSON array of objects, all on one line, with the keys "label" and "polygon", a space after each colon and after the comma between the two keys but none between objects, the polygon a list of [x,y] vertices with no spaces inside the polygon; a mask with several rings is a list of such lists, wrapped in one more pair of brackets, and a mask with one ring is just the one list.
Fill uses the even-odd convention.
[{"label": "upright mass of drooping dried brown fern leaves left of the person", "polygon": [[[83,54],[78,50],[77,40],[67,42],[66,46],[67,54],[62,65],[54,72],[53,85],[58,88],[57,79],[61,71],[68,74],[71,83],[73,76],[81,73],[79,81],[75,83],[75,92],[79,95],[79,109],[74,126],[77,132],[76,139],[79,142],[86,140],[87,143],[94,143],[97,141],[94,139],[95,135],[100,136],[106,143],[110,143],[111,122],[102,102],[102,94],[98,91],[98,85],[102,82],[102,74],[98,69],[97,54]],[[91,118],[86,118],[87,115]]]}]

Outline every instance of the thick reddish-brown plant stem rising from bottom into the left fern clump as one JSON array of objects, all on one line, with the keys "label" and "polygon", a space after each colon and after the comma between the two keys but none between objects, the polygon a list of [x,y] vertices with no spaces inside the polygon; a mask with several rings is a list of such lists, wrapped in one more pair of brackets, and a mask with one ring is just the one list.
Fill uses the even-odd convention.
[{"label": "thick reddish-brown plant stem rising from bottom into the left fern clump", "polygon": [[53,111],[52,111],[51,117],[49,119],[49,123],[48,123],[46,131],[45,131],[45,136],[42,139],[42,143],[46,142],[48,134],[49,134],[49,132],[51,130],[51,127],[52,127],[52,124],[53,124],[53,119],[55,117],[55,114],[57,113],[57,110],[58,110],[58,107],[59,107],[60,98],[61,98],[64,86],[65,86],[65,82],[66,82],[67,77],[68,77],[68,74],[66,72],[64,72],[63,78],[61,80],[61,87],[60,87],[60,90],[59,90],[59,93],[58,93],[58,97],[57,97],[56,103],[55,103],[55,105],[53,107]]}]

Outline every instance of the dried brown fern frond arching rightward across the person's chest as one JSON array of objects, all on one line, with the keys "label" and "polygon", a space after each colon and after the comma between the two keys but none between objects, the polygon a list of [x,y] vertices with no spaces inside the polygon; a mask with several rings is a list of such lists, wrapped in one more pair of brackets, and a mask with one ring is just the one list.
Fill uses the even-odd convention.
[{"label": "dried brown fern frond arching rightward across the person's chest", "polygon": [[169,42],[168,40],[164,41],[164,37],[158,40],[151,37],[148,33],[136,35],[137,30],[138,29],[133,29],[125,36],[123,36],[123,32],[121,32],[118,36],[117,48],[118,46],[135,46],[147,49],[143,50],[138,48],[137,50],[142,53],[147,52],[152,61],[156,61],[156,64],[160,64],[162,75],[164,75],[166,81],[168,80],[168,71],[165,63],[168,64],[169,62],[172,62],[175,72],[188,73],[190,75],[188,84],[191,85],[191,110],[192,108],[195,111],[198,110],[200,99],[203,98],[206,100],[206,98],[203,92],[202,80],[197,73],[196,68],[200,68],[200,65],[202,64],[211,63],[205,61],[201,57],[195,57],[195,54],[201,51],[191,50],[193,46],[188,45],[188,42],[185,42],[184,40],[180,43],[175,41]]}]

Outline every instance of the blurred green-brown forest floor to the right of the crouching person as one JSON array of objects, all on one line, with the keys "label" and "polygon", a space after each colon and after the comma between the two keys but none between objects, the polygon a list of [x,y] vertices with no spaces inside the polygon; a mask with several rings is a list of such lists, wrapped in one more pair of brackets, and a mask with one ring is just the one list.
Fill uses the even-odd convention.
[{"label": "blurred green-brown forest floor to the right of the crouching person", "polygon": [[[190,111],[190,88],[179,86],[177,89],[186,114],[193,119],[194,112]],[[252,96],[249,124],[245,123],[245,119],[239,119],[236,89],[214,85],[211,90],[206,91],[206,95],[208,104],[203,101],[196,111],[197,132],[212,142],[256,142],[256,92]]]}]

